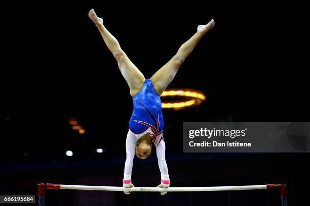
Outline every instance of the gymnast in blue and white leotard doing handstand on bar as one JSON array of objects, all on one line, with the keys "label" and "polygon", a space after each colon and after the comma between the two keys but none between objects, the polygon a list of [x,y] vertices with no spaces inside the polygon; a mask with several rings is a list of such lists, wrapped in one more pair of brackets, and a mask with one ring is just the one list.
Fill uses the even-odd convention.
[{"label": "gymnast in blue and white leotard doing handstand on bar", "polygon": [[[181,45],[172,59],[150,79],[145,79],[122,50],[118,40],[104,27],[103,19],[97,17],[93,9],[89,11],[88,16],[99,29],[105,44],[117,60],[121,73],[130,88],[130,95],[133,98],[134,108],[129,121],[129,131],[126,139],[123,187],[134,187],[131,183],[134,156],[136,155],[140,159],[148,158],[152,144],[154,144],[161,172],[161,184],[157,187],[168,188],[170,179],[165,159],[166,146],[163,137],[164,121],[161,95],[200,38],[213,28],[214,21],[211,20],[207,25],[199,25],[197,32]],[[129,191],[124,192],[126,194],[130,193]],[[166,193],[161,192],[161,194]]]}]

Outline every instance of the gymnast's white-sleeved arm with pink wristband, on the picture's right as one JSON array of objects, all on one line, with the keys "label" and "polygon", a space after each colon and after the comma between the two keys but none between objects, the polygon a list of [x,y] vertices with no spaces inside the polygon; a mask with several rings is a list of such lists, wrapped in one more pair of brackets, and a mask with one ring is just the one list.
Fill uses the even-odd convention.
[{"label": "gymnast's white-sleeved arm with pink wristband, on the picture's right", "polygon": [[158,159],[158,166],[161,171],[161,184],[158,185],[158,187],[163,188],[167,188],[170,186],[170,179],[168,174],[168,166],[166,163],[165,151],[166,151],[166,144],[164,139],[161,139],[160,143],[156,146],[156,154]]}]

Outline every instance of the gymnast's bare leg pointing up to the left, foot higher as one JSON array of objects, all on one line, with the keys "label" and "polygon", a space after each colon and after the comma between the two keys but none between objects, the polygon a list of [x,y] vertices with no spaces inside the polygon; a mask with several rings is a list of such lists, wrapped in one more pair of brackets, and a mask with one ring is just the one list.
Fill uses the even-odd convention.
[{"label": "gymnast's bare leg pointing up to the left, foot higher", "polygon": [[117,60],[121,73],[130,88],[130,94],[132,96],[135,95],[141,89],[145,81],[143,74],[129,60],[127,55],[121,49],[118,40],[103,26],[103,20],[97,17],[93,9],[89,11],[88,16],[96,24],[105,44]]}]

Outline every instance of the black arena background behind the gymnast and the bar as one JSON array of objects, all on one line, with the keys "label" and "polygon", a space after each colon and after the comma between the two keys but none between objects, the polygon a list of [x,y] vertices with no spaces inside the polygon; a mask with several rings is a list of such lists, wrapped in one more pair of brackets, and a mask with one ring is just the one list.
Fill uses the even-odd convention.
[{"label": "black arena background behind the gymnast and the bar", "polygon": [[[169,86],[198,89],[207,97],[196,108],[164,111],[171,186],[287,183],[289,205],[306,203],[308,153],[182,153],[181,136],[182,122],[309,122],[306,13],[297,2],[3,4],[0,194],[36,194],[38,182],[122,185],[132,99],[88,18],[92,8],[146,78],[197,25],[215,20]],[[72,117],[85,134],[71,130]],[[65,156],[68,149],[72,157]],[[154,153],[135,159],[132,179],[136,186],[158,185]],[[47,194],[47,205],[158,204],[280,205],[280,195],[264,190]]]}]

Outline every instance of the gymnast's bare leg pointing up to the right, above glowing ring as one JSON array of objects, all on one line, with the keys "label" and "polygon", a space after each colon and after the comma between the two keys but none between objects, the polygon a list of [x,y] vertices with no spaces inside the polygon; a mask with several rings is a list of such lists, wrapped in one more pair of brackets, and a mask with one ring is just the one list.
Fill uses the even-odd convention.
[{"label": "gymnast's bare leg pointing up to the right, above glowing ring", "polygon": [[162,95],[163,91],[173,80],[180,65],[184,62],[185,58],[195,48],[201,37],[214,26],[213,19],[207,25],[199,25],[197,32],[181,45],[177,54],[161,69],[159,69],[151,78],[154,88]]}]

